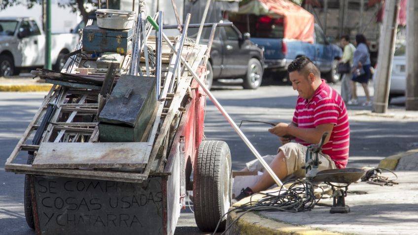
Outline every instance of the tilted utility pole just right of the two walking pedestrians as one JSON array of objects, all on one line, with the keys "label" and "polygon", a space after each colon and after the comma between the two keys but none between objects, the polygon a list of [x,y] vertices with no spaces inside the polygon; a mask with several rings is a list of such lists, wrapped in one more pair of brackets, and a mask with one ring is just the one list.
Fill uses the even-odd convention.
[{"label": "tilted utility pole just right of the two walking pedestrians", "polygon": [[385,113],[389,97],[390,73],[392,72],[392,59],[395,53],[395,38],[398,28],[400,0],[385,1],[383,32],[379,41],[378,67],[376,74],[375,99],[373,112]]}]

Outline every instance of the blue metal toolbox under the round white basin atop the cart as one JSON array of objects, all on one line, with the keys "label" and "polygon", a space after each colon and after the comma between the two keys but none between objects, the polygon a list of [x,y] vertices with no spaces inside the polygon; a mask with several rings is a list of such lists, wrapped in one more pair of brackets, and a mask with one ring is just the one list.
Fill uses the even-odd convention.
[{"label": "blue metal toolbox under the round white basin atop the cart", "polygon": [[107,30],[98,26],[87,26],[83,30],[83,51],[103,53],[116,52],[122,55],[132,51],[134,30]]}]

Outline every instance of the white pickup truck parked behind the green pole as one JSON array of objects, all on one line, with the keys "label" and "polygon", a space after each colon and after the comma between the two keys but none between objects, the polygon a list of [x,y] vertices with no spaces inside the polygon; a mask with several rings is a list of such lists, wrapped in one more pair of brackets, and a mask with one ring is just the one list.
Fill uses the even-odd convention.
[{"label": "white pickup truck parked behind the green pole", "polygon": [[[64,55],[75,49],[78,34],[51,35],[51,63],[60,71]],[[0,76],[19,74],[22,68],[42,67],[45,62],[45,34],[35,20],[0,17]]]}]

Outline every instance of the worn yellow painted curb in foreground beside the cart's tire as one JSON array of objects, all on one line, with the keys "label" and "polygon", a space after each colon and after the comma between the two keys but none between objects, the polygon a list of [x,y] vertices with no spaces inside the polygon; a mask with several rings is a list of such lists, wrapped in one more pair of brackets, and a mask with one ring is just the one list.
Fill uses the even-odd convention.
[{"label": "worn yellow painted curb in foreground beside the cart's tire", "polygon": [[[241,213],[232,211],[228,215],[226,228]],[[308,227],[294,226],[283,222],[264,218],[254,212],[245,213],[231,228],[226,232],[228,235],[342,235],[340,233],[317,230]]]}]

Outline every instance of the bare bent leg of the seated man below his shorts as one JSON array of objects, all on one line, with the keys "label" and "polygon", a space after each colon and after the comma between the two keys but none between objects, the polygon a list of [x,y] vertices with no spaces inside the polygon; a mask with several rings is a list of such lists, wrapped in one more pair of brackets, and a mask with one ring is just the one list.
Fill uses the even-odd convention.
[{"label": "bare bent leg of the seated man below his shorts", "polygon": [[[280,151],[277,157],[272,161],[270,164],[270,168],[272,168],[273,172],[282,180],[284,177],[287,176],[287,166],[286,160],[283,151]],[[275,181],[270,176],[267,171],[261,175],[258,181],[250,187],[253,193],[258,193],[260,191],[268,189],[270,186],[275,184]]]}]

